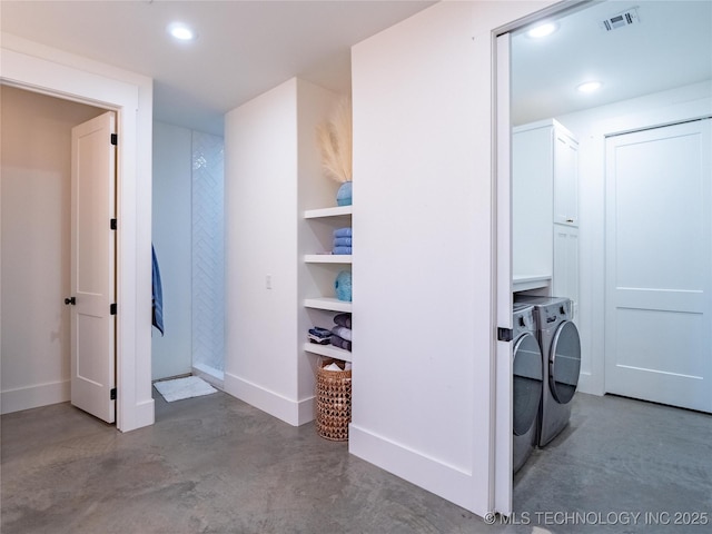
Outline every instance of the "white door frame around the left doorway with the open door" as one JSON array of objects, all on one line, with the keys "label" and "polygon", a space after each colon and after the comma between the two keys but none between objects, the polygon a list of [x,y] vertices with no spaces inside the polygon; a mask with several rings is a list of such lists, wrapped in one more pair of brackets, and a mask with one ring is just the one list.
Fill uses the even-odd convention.
[{"label": "white door frame around the left doorway with the open door", "polygon": [[117,428],[152,425],[151,81],[12,36],[2,41],[32,55],[2,48],[0,82],[117,112]]}]

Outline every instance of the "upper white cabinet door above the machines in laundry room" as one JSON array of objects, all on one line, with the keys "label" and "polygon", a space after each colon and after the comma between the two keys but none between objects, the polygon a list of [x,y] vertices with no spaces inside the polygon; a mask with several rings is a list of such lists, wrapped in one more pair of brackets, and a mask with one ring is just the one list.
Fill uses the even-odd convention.
[{"label": "upper white cabinet door above the machines in laundry room", "polygon": [[578,144],[554,130],[554,222],[578,226]]}]

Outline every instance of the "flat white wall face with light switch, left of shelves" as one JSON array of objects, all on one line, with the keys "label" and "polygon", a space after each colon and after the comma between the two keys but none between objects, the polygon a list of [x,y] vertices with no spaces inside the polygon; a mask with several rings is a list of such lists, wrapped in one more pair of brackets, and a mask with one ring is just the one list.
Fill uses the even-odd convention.
[{"label": "flat white wall face with light switch, left of shelves", "polygon": [[297,80],[228,112],[225,151],[225,390],[297,424]]}]

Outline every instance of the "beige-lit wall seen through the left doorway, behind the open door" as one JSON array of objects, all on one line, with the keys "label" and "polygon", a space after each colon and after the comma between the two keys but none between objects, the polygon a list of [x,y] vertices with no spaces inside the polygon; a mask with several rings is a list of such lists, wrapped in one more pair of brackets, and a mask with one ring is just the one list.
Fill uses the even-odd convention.
[{"label": "beige-lit wall seen through the left doorway, behind the open door", "polygon": [[69,400],[71,128],[106,110],[0,87],[2,413]]}]

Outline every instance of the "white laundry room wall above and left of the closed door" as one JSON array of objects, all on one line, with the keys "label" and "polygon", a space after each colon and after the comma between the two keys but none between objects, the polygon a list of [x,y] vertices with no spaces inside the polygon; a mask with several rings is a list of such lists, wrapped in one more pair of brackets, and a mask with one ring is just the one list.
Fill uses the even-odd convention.
[{"label": "white laundry room wall above and left of the closed door", "polygon": [[578,139],[581,382],[603,395],[605,135],[712,113],[712,82],[695,83],[557,117]]}]

